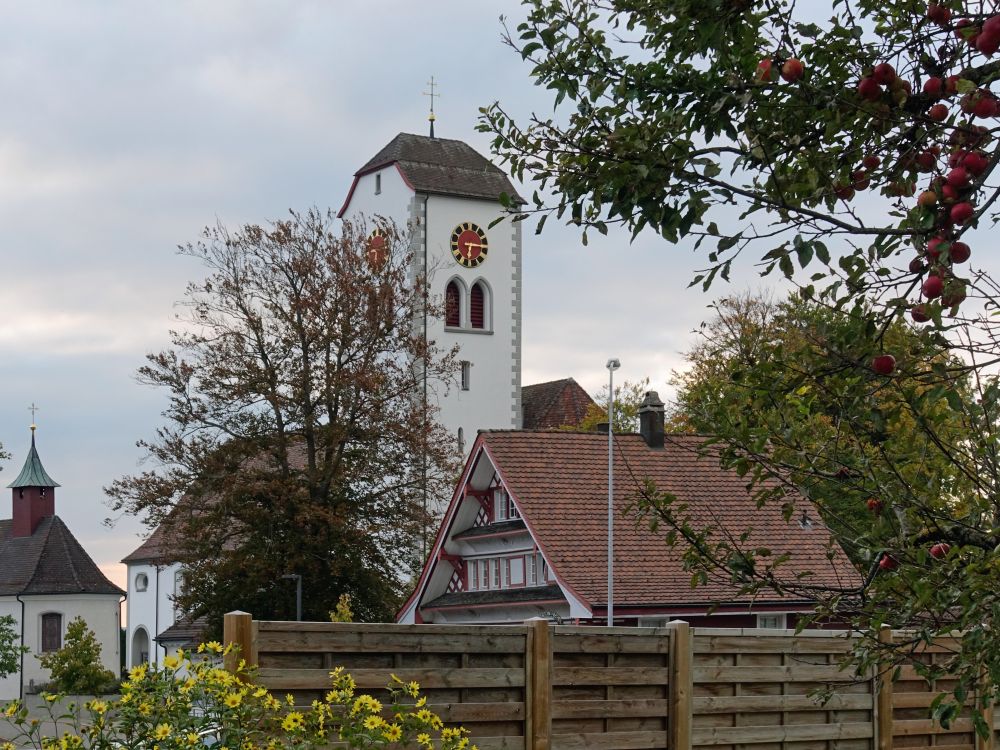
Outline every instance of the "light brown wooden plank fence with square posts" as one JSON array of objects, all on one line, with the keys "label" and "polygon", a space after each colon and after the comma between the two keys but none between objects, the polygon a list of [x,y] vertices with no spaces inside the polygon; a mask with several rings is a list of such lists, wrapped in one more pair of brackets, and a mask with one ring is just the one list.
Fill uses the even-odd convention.
[{"label": "light brown wooden plank fence with square posts", "polygon": [[[254,621],[226,615],[225,639],[261,684],[308,704],[343,666],[361,690],[415,680],[445,722],[482,750],[992,750],[966,714],[928,718],[947,682],[904,666],[895,682],[838,666],[836,631]],[[933,660],[949,644],[916,658]],[[232,665],[230,665],[232,666]],[[813,693],[827,686],[832,698]],[[994,726],[993,710],[985,715]],[[1000,717],[998,717],[1000,718]]]}]

